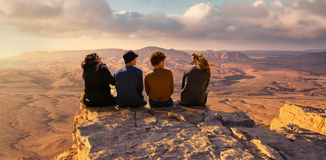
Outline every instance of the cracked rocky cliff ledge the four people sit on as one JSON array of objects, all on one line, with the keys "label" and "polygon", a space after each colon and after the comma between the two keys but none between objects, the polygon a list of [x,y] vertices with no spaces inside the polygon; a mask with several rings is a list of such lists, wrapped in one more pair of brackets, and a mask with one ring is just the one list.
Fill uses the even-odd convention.
[{"label": "cracked rocky cliff ledge the four people sit on", "polygon": [[71,149],[55,159],[326,159],[326,136],[297,125],[258,128],[243,112],[174,105],[85,108]]}]

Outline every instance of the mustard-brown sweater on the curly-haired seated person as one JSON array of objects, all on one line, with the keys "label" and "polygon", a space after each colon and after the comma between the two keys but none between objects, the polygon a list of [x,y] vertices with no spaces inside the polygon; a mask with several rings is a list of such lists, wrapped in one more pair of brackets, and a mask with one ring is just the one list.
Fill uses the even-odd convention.
[{"label": "mustard-brown sweater on the curly-haired seated person", "polygon": [[174,90],[172,71],[165,68],[154,68],[147,72],[145,74],[145,90],[151,100],[168,100]]}]

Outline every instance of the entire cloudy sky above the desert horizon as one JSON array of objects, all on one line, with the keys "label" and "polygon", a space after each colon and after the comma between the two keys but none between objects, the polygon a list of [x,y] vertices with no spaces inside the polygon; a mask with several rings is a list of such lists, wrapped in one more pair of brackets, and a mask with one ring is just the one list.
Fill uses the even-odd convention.
[{"label": "entire cloudy sky above the desert horizon", "polygon": [[326,48],[326,0],[0,0],[0,57],[158,46]]}]

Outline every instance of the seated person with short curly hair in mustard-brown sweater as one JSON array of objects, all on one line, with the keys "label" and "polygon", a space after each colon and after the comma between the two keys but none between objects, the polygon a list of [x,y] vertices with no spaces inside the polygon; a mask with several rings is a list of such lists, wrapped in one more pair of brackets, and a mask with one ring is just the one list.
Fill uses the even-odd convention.
[{"label": "seated person with short curly hair in mustard-brown sweater", "polygon": [[151,65],[154,69],[145,74],[145,91],[149,97],[151,107],[164,107],[173,105],[171,95],[174,91],[173,74],[169,69],[165,69],[164,52],[155,51],[151,57]]}]

